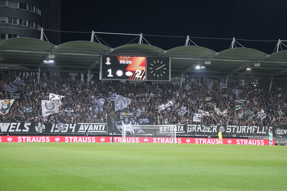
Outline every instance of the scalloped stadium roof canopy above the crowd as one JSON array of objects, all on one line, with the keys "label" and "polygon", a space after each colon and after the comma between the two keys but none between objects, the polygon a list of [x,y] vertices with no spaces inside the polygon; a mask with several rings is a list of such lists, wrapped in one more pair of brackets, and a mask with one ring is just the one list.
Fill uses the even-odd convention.
[{"label": "scalloped stadium roof canopy above the crowd", "polygon": [[[215,52],[199,46],[180,46],[166,51],[146,44],[109,48],[90,41],[73,41],[55,46],[34,38],[0,41],[0,69],[99,73],[101,54],[171,57],[172,76],[185,73],[202,76],[204,73],[206,77],[287,79],[285,50],[271,55],[250,48]],[[45,63],[48,58],[52,58],[54,63]]]}]

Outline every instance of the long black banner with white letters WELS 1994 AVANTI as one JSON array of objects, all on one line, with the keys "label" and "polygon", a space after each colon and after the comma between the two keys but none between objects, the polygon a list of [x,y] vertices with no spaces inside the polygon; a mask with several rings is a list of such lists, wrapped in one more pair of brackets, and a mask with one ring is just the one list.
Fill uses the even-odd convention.
[{"label": "long black banner with white letters WELS 1994 AVANTI", "polygon": [[0,123],[0,134],[84,134],[106,133],[106,123]]}]

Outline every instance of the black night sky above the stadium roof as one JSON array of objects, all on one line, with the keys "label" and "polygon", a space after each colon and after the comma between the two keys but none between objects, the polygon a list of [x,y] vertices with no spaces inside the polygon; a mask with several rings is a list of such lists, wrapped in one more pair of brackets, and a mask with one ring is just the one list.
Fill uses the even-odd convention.
[{"label": "black night sky above the stadium roof", "polygon": [[[61,2],[61,31],[89,32],[62,32],[61,43],[90,41],[93,30],[107,33],[143,33],[143,38],[151,45],[169,50],[184,46],[189,35],[197,46],[220,52],[228,49],[235,37],[245,48],[271,54],[279,38],[287,40],[286,0]],[[136,38],[127,35],[96,35],[105,41],[101,41],[102,44],[108,44],[112,48],[125,45]],[[138,42],[139,38],[132,41]],[[146,44],[145,41],[143,43]],[[236,47],[241,46],[236,43]],[[287,49],[284,48],[283,50]]]}]

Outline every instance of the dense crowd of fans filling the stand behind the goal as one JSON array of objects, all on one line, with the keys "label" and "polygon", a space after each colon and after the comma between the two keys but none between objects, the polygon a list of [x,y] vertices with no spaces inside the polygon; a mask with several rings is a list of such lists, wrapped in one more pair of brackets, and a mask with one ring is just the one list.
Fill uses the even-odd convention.
[{"label": "dense crowd of fans filling the stand behind the goal", "polygon": [[[228,83],[227,88],[220,89],[219,85],[213,85],[208,91],[206,85],[191,82],[188,91],[185,83],[180,86],[173,83],[162,82],[142,82],[129,83],[120,81],[96,81],[92,80],[89,85],[80,80],[67,78],[41,78],[37,83],[34,77],[21,78],[24,81],[22,86],[18,86],[18,91],[22,93],[23,100],[15,101],[9,113],[0,115],[1,122],[41,122],[41,123],[95,123],[106,122],[106,120],[116,120],[120,118],[121,110],[115,111],[115,102],[105,101],[103,112],[92,115],[91,106],[95,105],[94,98],[97,96],[107,97],[114,92],[117,95],[126,96],[131,99],[131,104],[125,111],[133,112],[136,116],[138,108],[141,115],[138,119],[148,119],[153,124],[204,124],[204,125],[256,125],[286,127],[286,87],[272,86],[269,92],[267,86],[242,86],[236,83]],[[5,84],[13,82],[14,78],[1,78],[0,99],[8,98],[5,91]],[[233,89],[243,90],[236,97]],[[41,110],[41,100],[49,100],[49,93],[63,95],[64,91],[73,97],[73,103],[69,104],[66,98],[62,99],[63,105],[59,108],[63,115],[52,114],[43,117]],[[179,94],[176,94],[179,91]],[[223,96],[225,94],[225,97]],[[154,95],[154,96],[148,96]],[[216,108],[223,111],[228,109],[226,115],[218,115],[214,112],[214,105],[206,102],[206,96],[210,96],[217,101]],[[235,110],[236,99],[245,100],[242,107]],[[167,104],[168,100],[175,100],[169,108],[159,112],[159,106]],[[194,102],[192,101],[194,100]],[[24,113],[24,105],[32,106],[32,113]],[[188,112],[180,113],[181,107],[186,107]],[[243,117],[241,114],[246,108],[254,108],[254,115]],[[263,120],[257,118],[257,113],[264,110],[267,115]],[[193,121],[193,114],[200,113],[200,110],[208,111],[211,115],[204,116],[201,122]],[[283,115],[278,114],[281,110]]]}]

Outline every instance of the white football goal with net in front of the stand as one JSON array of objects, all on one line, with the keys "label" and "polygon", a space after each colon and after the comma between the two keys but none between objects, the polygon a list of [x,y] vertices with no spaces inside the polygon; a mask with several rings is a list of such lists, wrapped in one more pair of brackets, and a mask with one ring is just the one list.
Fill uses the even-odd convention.
[{"label": "white football goal with net in front of the stand", "polygon": [[123,125],[127,143],[176,143],[176,125]]}]

